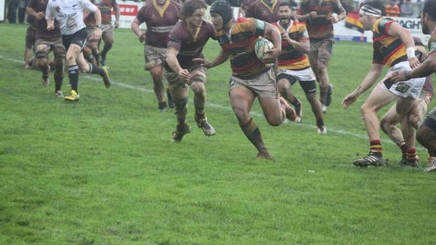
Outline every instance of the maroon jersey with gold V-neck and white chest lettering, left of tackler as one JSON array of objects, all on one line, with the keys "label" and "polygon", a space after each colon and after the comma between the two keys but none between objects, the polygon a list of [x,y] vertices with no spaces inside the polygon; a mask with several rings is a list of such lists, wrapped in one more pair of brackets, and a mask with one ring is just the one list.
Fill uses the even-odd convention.
[{"label": "maroon jersey with gold V-neck and white chest lettering, left of tackler", "polygon": [[138,20],[147,25],[145,44],[158,48],[166,48],[168,34],[179,20],[178,13],[182,8],[179,3],[168,0],[161,7],[155,1],[149,0],[138,11]]}]

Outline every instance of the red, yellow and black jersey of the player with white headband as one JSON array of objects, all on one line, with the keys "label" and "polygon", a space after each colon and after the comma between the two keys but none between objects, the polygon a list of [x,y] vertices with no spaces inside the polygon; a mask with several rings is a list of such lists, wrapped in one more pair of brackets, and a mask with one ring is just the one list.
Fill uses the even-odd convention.
[{"label": "red, yellow and black jersey of the player with white headband", "polygon": [[386,64],[392,67],[395,64],[406,61],[406,47],[399,37],[387,34],[389,26],[395,21],[391,18],[382,17],[374,23],[373,27],[373,63]]}]

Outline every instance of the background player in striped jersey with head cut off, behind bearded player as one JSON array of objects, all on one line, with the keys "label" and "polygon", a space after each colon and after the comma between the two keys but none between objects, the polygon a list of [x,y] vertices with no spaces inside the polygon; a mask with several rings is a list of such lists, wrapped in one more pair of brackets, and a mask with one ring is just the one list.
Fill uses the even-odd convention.
[{"label": "background player in striped jersey with head cut off, behind bearded player", "polygon": [[320,101],[326,112],[332,93],[327,66],[333,49],[333,24],[345,19],[345,9],[339,0],[301,0],[295,17],[300,22],[306,21],[310,38],[309,62],[320,84]]}]

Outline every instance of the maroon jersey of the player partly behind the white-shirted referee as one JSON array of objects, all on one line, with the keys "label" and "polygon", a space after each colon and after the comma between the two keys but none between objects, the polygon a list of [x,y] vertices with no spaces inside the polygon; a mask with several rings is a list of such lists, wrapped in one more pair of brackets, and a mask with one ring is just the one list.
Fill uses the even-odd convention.
[{"label": "maroon jersey of the player partly behind the white-shirted referee", "polygon": [[[30,0],[28,6],[33,8],[37,13],[45,12],[48,2],[49,0]],[[54,29],[48,31],[46,18],[42,18],[40,20],[36,18],[34,19],[35,20],[32,23],[32,25],[36,29],[35,38],[50,40],[50,39],[57,39],[61,37],[59,23],[56,20],[54,20]]]}]

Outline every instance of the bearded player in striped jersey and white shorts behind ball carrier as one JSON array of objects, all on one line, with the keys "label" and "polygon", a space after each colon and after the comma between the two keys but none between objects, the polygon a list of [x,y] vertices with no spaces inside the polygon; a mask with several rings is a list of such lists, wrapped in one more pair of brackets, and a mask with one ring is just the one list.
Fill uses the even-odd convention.
[{"label": "bearded player in striped jersey and white shorts behind ball carrier", "polygon": [[281,35],[281,53],[277,59],[277,85],[280,95],[287,99],[297,112],[296,122],[301,121],[302,106],[291,91],[291,86],[300,82],[316,118],[317,132],[327,133],[324,126],[321,102],[317,98],[315,74],[305,53],[309,51],[309,35],[304,24],[293,20],[292,5],[283,2],[278,5],[279,21],[273,23]]}]

